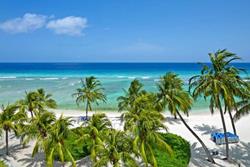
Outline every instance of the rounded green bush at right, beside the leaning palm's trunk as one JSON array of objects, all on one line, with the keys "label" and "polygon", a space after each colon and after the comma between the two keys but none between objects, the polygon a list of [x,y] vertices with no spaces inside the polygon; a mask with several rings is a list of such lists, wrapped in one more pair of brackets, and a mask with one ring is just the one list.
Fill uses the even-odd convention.
[{"label": "rounded green bush at right, beside the leaning palm's trunk", "polygon": [[158,167],[187,167],[191,157],[190,144],[175,134],[161,133],[161,136],[171,146],[174,157],[170,158],[166,152],[154,148]]}]

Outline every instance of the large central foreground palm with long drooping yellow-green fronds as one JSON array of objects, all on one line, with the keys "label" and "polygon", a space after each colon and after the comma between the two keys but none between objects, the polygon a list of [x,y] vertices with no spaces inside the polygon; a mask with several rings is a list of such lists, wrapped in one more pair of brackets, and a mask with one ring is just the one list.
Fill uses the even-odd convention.
[{"label": "large central foreground palm with long drooping yellow-green fronds", "polygon": [[[145,94],[137,97],[134,106],[145,102]],[[129,112],[124,113],[124,130],[133,136],[133,151],[136,155],[142,157],[145,166],[149,164],[157,167],[153,146],[158,147],[172,156],[172,149],[165,143],[162,137],[157,133],[160,130],[167,130],[162,123],[164,117],[155,110],[152,101],[147,101],[144,108],[136,110],[133,107]]]}]

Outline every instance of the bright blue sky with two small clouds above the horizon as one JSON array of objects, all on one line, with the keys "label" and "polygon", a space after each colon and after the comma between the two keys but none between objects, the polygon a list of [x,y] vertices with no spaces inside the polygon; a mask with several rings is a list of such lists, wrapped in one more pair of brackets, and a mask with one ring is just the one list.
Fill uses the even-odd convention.
[{"label": "bright blue sky with two small clouds above the horizon", "polygon": [[249,0],[1,0],[0,62],[250,62]]}]

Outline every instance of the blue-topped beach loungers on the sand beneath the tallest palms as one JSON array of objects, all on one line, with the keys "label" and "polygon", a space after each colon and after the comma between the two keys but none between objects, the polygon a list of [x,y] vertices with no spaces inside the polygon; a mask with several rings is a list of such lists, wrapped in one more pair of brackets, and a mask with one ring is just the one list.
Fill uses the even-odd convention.
[{"label": "blue-topped beach loungers on the sand beneath the tallest palms", "polygon": [[[238,143],[239,142],[239,136],[235,135],[231,132],[226,133],[228,138],[228,143]],[[225,135],[224,133],[214,132],[211,133],[211,140],[213,140],[216,144],[225,144]]]}]

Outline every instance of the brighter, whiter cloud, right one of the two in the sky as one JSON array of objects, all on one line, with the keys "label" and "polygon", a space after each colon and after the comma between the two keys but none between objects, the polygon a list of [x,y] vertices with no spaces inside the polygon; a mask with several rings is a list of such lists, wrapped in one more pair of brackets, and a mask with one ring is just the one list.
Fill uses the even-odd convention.
[{"label": "brighter, whiter cloud, right one of the two in the sky", "polygon": [[87,19],[84,17],[68,16],[62,19],[51,20],[46,27],[53,30],[56,34],[81,36],[83,35],[83,29],[87,27]]}]

